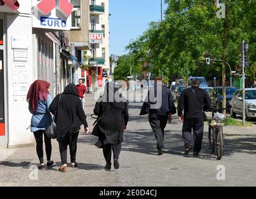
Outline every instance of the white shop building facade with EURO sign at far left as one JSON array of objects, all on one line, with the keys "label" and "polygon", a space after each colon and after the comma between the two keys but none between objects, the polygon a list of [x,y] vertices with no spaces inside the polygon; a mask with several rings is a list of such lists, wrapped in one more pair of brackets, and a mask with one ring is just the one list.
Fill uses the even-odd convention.
[{"label": "white shop building facade with EURO sign at far left", "polygon": [[0,147],[17,147],[34,144],[26,101],[31,83],[49,81],[54,98],[67,83],[77,81],[79,53],[65,33],[75,6],[69,0],[1,2]]}]

